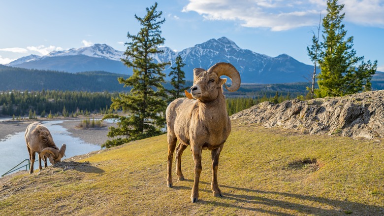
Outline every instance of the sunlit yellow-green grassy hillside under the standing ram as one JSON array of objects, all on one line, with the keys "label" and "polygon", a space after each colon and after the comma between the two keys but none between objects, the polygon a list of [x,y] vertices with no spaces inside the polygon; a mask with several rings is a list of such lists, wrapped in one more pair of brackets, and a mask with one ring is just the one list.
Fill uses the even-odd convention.
[{"label": "sunlit yellow-green grassy hillside under the standing ram", "polygon": [[[166,136],[68,159],[33,175],[0,180],[0,215],[383,215],[383,140],[308,136],[233,124],[210,189],[210,151],[203,151],[200,197],[185,181],[167,188]],[[175,166],[173,166],[174,168]]]}]

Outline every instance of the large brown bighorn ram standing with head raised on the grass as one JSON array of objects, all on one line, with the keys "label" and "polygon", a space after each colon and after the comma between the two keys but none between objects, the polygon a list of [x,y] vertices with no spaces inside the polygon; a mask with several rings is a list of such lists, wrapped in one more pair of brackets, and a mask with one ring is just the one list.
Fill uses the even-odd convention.
[{"label": "large brown bighorn ram standing with head raised on the grass", "polygon": [[[226,75],[232,80],[231,86],[226,86]],[[211,150],[213,196],[223,197],[217,182],[219,156],[224,142],[231,132],[231,122],[226,111],[222,85],[228,91],[240,88],[240,74],[229,63],[217,63],[205,71],[193,69],[193,86],[191,94],[186,91],[187,98],[179,98],[169,104],[166,109],[168,166],[167,186],[172,187],[172,160],[176,149],[176,174],[179,180],[184,180],[181,172],[181,155],[187,145],[191,145],[194,160],[194,182],[191,201],[198,200],[198,183],[201,173],[201,151]],[[196,100],[192,99],[192,96]],[[179,144],[176,147],[176,142]]]}]

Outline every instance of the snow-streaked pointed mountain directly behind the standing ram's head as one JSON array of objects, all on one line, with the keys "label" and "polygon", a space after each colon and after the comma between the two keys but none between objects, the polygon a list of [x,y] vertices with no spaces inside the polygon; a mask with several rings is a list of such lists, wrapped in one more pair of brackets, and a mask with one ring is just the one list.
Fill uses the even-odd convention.
[{"label": "snow-streaked pointed mountain directly behind the standing ram's head", "polygon": [[[298,62],[287,54],[270,57],[248,49],[242,49],[232,40],[221,37],[175,53],[186,64],[183,71],[192,80],[193,68],[208,69],[217,62],[229,62],[240,72],[242,83],[306,82],[313,66]],[[175,58],[171,60],[172,64]],[[165,59],[165,58],[164,58]],[[170,67],[174,67],[171,65]],[[170,67],[165,72],[170,72]]]}]

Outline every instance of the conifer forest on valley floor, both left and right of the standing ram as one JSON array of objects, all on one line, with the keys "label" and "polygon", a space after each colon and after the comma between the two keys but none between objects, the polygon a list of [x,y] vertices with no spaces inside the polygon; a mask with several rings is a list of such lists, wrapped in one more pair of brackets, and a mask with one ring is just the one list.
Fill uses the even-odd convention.
[{"label": "conifer forest on valley floor, both left and right of the standing ram", "polygon": [[[30,112],[36,116],[67,115],[79,112],[105,113],[112,104],[111,98],[118,97],[117,92],[83,92],[83,91],[2,91],[0,92],[0,116],[26,116]],[[270,101],[280,103],[290,99],[289,94],[276,92],[275,96],[264,94],[259,97],[227,98],[228,114],[250,108],[258,103]],[[66,112],[66,113],[63,113]]]}]

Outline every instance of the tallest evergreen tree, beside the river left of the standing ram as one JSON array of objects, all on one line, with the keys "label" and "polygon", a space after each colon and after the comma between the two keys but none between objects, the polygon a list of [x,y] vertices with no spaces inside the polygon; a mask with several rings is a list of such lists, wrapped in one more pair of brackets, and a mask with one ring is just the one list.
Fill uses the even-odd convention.
[{"label": "tallest evergreen tree, beside the river left of the standing ram", "polygon": [[166,108],[166,93],[161,83],[165,74],[162,72],[165,63],[155,63],[153,56],[163,51],[159,45],[164,43],[160,36],[160,25],[165,22],[161,19],[161,11],[157,11],[158,4],[146,8],[144,18],[135,15],[142,28],[137,35],[128,32],[127,50],[122,59],[127,67],[133,68],[133,74],[128,78],[119,78],[124,86],[132,86],[127,94],[119,94],[119,98],[112,98],[111,108],[122,109],[127,115],[107,114],[103,119],[117,119],[117,128],[110,127],[108,137],[114,138],[102,146],[111,147],[121,145],[133,140],[157,136],[162,133],[165,118],[162,115]]}]

